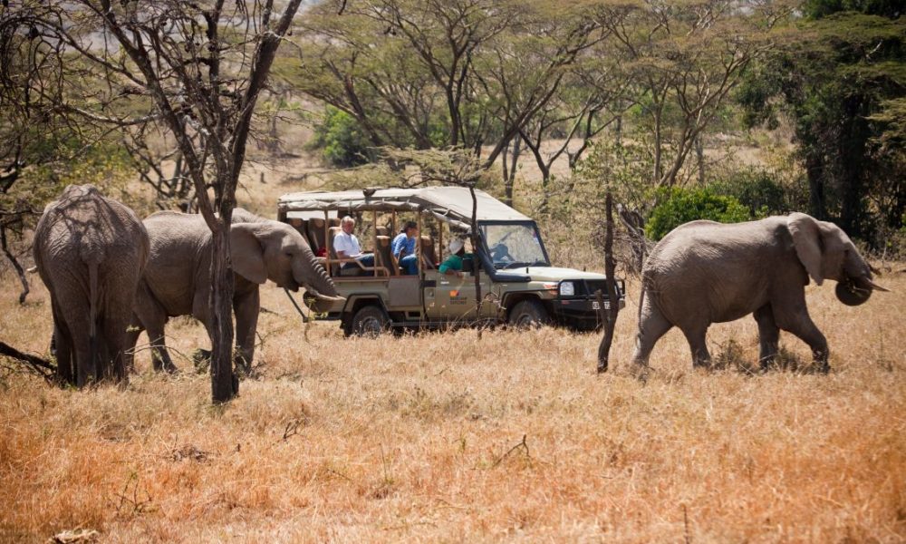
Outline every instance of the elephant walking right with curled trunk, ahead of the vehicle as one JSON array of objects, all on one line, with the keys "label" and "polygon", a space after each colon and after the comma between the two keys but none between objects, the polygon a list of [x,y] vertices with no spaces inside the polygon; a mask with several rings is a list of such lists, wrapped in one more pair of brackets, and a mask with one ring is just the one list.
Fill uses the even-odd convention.
[{"label": "elephant walking right with curled trunk, ahead of the vehicle", "polygon": [[804,213],[675,228],[642,271],[635,370],[644,374],[654,345],[674,326],[686,335],[693,364],[708,365],[708,326],[754,313],[763,368],[773,363],[783,329],[808,344],[826,372],[827,340],[805,306],[809,277],[819,286],[837,281],[837,298],[850,306],[863,304],[872,290],[887,290],[872,281],[871,268],[842,229]]}]

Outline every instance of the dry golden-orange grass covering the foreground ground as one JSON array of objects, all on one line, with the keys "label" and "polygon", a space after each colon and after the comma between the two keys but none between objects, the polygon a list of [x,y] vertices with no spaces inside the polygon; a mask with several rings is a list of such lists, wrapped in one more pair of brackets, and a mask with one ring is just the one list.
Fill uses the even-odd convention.
[{"label": "dry golden-orange grass covering the foreground ground", "polygon": [[[830,375],[693,372],[672,332],[648,384],[595,375],[598,336],[559,330],[370,341],[318,323],[306,342],[267,287],[261,376],[224,409],[179,357],[168,378],[140,354],[124,391],[5,374],[0,540],[902,541],[906,277],[885,281],[895,292],[859,308],[811,288]],[[43,352],[37,284],[18,307],[2,280],[0,330]],[[169,334],[187,355],[207,345],[188,320]],[[754,361],[755,323],[717,325],[710,343]]]}]

